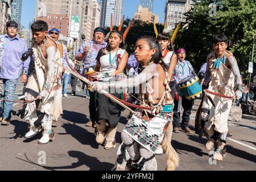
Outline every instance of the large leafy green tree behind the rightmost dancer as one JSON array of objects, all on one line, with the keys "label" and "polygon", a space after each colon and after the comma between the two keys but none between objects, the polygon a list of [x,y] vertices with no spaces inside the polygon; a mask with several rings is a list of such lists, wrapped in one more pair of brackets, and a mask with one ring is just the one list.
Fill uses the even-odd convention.
[{"label": "large leafy green tree behind the rightmost dancer", "polygon": [[209,4],[212,2],[201,0],[185,14],[183,28],[175,40],[176,48],[187,49],[188,59],[198,71],[212,51],[212,36],[225,34],[230,39],[229,51],[233,52],[240,69],[245,71],[251,56],[252,39],[256,35],[256,1],[218,1],[216,16],[210,16]]}]

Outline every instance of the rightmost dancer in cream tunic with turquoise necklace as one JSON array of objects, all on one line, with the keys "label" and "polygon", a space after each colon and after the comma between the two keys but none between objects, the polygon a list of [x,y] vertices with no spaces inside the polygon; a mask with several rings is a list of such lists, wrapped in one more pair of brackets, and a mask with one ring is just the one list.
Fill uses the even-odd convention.
[{"label": "rightmost dancer in cream tunic with turquoise necklace", "polygon": [[214,51],[207,56],[205,73],[205,78],[210,76],[209,84],[205,83],[209,88],[205,90],[200,111],[201,119],[205,122],[205,135],[208,138],[205,147],[211,150],[214,142],[217,142],[213,158],[222,160],[225,154],[232,100],[234,97],[239,100],[243,89],[237,60],[231,52],[226,51],[228,38],[225,35],[215,35],[212,44]]}]

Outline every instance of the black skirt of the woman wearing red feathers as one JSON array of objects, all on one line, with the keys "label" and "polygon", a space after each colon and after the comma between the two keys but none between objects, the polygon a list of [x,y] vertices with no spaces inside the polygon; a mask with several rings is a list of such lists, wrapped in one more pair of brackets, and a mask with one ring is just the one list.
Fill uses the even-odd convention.
[{"label": "black skirt of the woman wearing red feathers", "polygon": [[[120,94],[112,94],[113,96],[120,98]],[[117,127],[119,119],[121,117],[121,111],[117,106],[118,104],[106,97],[104,94],[98,94],[98,119],[106,119],[112,127]]]}]

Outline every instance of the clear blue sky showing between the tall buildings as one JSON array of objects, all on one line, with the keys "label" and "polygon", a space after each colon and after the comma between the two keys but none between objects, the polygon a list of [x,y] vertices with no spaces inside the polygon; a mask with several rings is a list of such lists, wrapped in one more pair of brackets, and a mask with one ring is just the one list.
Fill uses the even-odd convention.
[{"label": "clear blue sky showing between the tall buildings", "polygon": [[[98,0],[100,1],[100,0]],[[36,11],[36,0],[22,1],[22,16],[20,24],[28,28],[28,24],[34,20]],[[159,22],[164,22],[164,9],[166,0],[155,0],[154,13],[159,15]],[[123,0],[123,15],[132,18],[137,11],[139,0]]]}]

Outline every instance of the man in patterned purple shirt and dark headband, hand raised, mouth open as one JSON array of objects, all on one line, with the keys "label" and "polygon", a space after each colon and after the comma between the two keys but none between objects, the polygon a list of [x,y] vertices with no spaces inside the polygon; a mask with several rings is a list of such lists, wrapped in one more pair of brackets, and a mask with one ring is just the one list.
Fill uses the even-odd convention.
[{"label": "man in patterned purple shirt and dark headband, hand raised, mouth open", "polygon": [[[84,61],[84,68],[82,69],[82,74],[92,71],[96,67],[96,57],[100,49],[105,48],[107,43],[104,41],[106,36],[105,30],[103,28],[96,28],[93,33],[93,39],[82,44],[80,49],[76,52],[76,59],[79,61]],[[95,92],[90,92],[90,102],[89,102],[89,113],[90,121],[86,123],[86,126],[94,126],[96,122],[96,103],[95,103]]]}]

